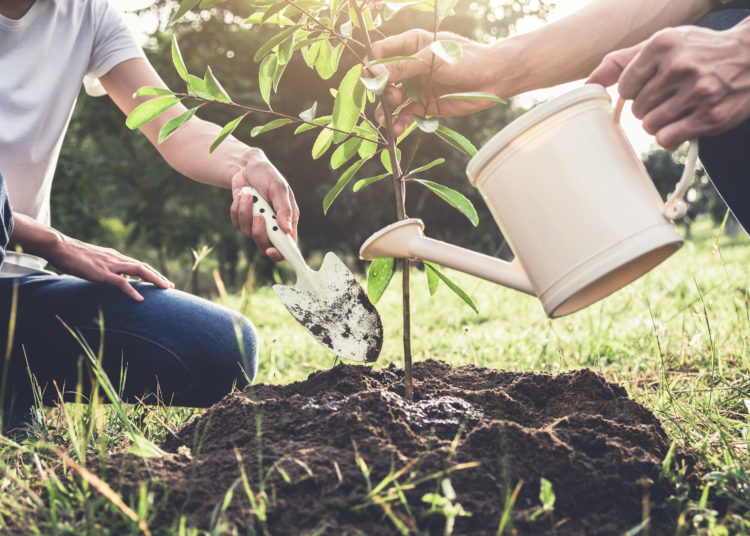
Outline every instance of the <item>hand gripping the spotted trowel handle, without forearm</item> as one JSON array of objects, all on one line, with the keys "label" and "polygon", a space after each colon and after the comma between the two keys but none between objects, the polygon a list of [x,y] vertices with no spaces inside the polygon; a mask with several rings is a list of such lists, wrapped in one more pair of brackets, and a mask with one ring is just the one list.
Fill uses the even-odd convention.
[{"label": "hand gripping the spotted trowel handle, without forearm", "polygon": [[266,225],[260,214],[253,217],[253,196],[241,193],[243,186],[252,186],[268,201],[276,212],[281,230],[297,240],[299,208],[294,193],[284,177],[258,150],[245,166],[232,177],[232,223],[247,238],[252,238],[261,253],[279,262],[284,257],[271,245],[266,235]]}]

